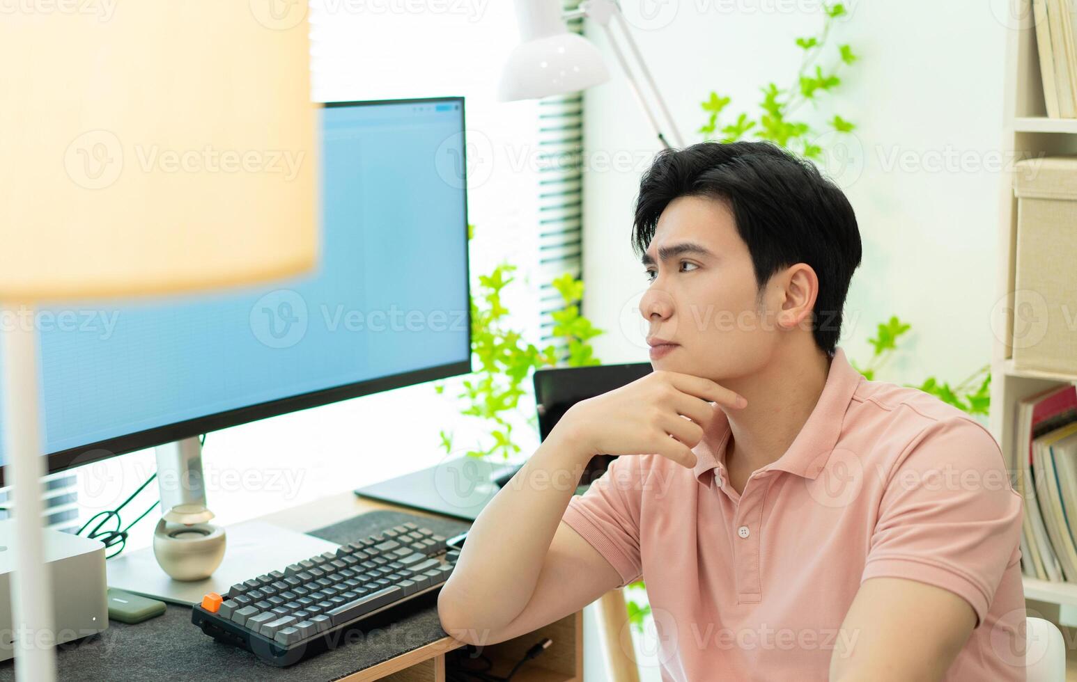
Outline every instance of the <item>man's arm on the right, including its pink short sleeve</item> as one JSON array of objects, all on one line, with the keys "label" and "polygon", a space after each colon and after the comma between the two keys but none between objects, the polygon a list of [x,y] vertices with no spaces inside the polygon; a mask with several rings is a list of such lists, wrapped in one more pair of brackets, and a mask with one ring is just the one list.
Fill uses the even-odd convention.
[{"label": "man's arm on the right, including its pink short sleeve", "polygon": [[1022,508],[987,429],[966,417],[925,428],[883,493],[830,679],[943,679],[1017,560]]}]

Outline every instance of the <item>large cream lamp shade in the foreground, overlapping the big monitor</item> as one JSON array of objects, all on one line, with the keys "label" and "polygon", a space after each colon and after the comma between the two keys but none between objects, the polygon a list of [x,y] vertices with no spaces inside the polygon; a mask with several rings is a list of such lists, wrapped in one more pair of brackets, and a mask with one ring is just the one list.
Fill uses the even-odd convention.
[{"label": "large cream lamp shade in the foreground, overlapping the big monitor", "polygon": [[306,3],[277,4],[291,10],[102,0],[4,14],[0,299],[198,290],[313,267]]}]

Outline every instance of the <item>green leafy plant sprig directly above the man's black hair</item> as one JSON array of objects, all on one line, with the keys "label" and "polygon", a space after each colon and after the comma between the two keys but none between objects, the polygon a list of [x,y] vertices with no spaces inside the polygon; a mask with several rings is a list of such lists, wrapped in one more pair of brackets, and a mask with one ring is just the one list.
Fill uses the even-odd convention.
[{"label": "green leafy plant sprig directly above the man's black hair", "polygon": [[[802,55],[794,83],[785,89],[779,88],[775,83],[768,83],[760,88],[763,100],[759,102],[757,115],[741,113],[729,123],[721,123],[719,117],[731,100],[729,97],[711,91],[710,98],[701,103],[707,114],[707,123],[699,128],[699,132],[703,133],[704,141],[717,138],[722,142],[736,142],[746,137],[754,137],[758,140],[770,140],[806,158],[822,157],[823,147],[814,142],[819,132],[809,123],[795,119],[794,114],[807,102],[815,106],[827,93],[841,85],[839,71],[857,60],[850,45],[840,44],[834,66],[824,69],[816,63],[827,52],[834,23],[848,14],[845,5],[840,2],[824,3],[823,13],[823,28],[817,35],[796,39]],[[838,114],[834,114],[827,125],[838,132],[851,132],[855,128],[854,124]]]}]

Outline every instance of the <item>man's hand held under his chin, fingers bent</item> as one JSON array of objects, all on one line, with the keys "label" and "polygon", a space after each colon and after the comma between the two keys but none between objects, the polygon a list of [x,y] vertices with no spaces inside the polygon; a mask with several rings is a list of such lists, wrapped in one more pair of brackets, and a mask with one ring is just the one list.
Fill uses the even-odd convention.
[{"label": "man's hand held under his chin, fingers bent", "polygon": [[709,379],[658,370],[573,404],[554,430],[571,435],[589,456],[659,454],[691,468],[691,449],[717,409],[712,402],[731,409],[747,404]]}]

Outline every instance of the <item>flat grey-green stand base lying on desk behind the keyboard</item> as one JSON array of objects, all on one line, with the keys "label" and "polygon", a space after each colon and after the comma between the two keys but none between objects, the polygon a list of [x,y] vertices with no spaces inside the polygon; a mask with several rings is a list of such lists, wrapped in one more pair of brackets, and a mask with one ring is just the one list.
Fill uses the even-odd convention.
[{"label": "flat grey-green stand base lying on desk behind the keyboard", "polygon": [[464,521],[475,521],[522,465],[463,456],[365,485],[355,495]]}]

